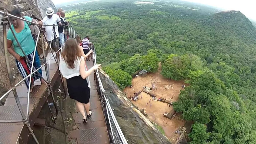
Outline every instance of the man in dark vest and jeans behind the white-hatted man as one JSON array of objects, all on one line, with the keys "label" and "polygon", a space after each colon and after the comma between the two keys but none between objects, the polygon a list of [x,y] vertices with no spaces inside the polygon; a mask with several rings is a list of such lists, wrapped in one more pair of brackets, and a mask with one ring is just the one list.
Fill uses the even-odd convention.
[{"label": "man in dark vest and jeans behind the white-hatted man", "polygon": [[[59,26],[59,42],[60,42],[60,47],[63,47],[65,45],[65,31],[64,28],[67,29],[68,28],[68,23],[67,21],[65,21],[65,10],[62,10],[60,12],[60,20],[62,23],[62,26]],[[65,25],[65,26],[63,26]]]}]

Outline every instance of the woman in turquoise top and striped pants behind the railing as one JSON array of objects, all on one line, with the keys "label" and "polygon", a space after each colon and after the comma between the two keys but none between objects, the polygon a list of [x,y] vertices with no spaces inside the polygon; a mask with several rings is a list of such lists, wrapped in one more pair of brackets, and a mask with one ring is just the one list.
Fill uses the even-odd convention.
[{"label": "woman in turquoise top and striped pants behind the railing", "polygon": [[[14,9],[10,14],[21,17],[21,12],[19,9]],[[23,17],[26,20],[38,23],[42,25],[42,22],[39,21],[37,22],[36,20],[32,19],[31,17],[24,16]],[[17,18],[10,17],[10,21],[12,23],[11,28],[14,31],[14,34],[22,47],[23,51],[25,52],[25,55],[28,57],[29,61],[25,59],[25,55],[18,46],[18,43],[16,42],[11,30],[9,29],[7,32],[7,50],[10,54],[12,54],[15,59],[16,59],[16,65],[18,67],[18,70],[20,74],[22,75],[23,78],[27,77],[30,74],[31,71],[31,63],[33,61],[34,57],[34,50],[35,50],[35,40],[33,39],[33,36],[31,35],[31,30],[29,29],[29,25],[32,25],[31,23],[27,23],[25,21],[22,21]],[[13,46],[13,48],[12,48]],[[35,59],[33,66],[35,67],[34,70],[38,69],[41,67],[40,60],[38,53],[36,51],[35,53]],[[42,75],[42,70],[39,69],[38,72],[40,75]],[[42,77],[40,77],[37,73],[34,73],[31,79],[31,86],[30,86],[30,92],[32,92],[33,87],[34,87],[34,82],[37,79],[41,80],[41,84],[44,84],[44,80]],[[27,88],[29,88],[29,79],[25,80],[25,84]]]}]

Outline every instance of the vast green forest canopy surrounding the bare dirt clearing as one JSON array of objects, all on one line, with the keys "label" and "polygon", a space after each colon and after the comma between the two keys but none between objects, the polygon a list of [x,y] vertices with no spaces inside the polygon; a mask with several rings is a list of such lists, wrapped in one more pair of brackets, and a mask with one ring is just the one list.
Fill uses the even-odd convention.
[{"label": "vast green forest canopy surrounding the bare dirt clearing", "polygon": [[155,72],[159,61],[165,77],[190,84],[174,103],[195,122],[190,143],[255,144],[255,28],[239,11],[183,3],[101,1],[63,9],[75,14],[74,27],[90,36],[98,62],[120,88],[137,70]]}]

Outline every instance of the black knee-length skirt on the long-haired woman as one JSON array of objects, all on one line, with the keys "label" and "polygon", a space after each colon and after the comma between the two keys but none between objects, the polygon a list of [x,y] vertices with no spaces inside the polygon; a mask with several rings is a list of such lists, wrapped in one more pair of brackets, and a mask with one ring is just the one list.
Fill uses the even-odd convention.
[{"label": "black knee-length skirt on the long-haired woman", "polygon": [[83,104],[89,103],[90,88],[81,75],[67,79],[69,97]]}]

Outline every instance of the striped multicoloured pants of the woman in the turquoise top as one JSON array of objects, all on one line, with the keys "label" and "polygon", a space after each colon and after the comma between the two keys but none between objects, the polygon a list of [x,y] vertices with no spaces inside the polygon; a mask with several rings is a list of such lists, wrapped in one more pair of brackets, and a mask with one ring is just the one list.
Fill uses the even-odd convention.
[{"label": "striped multicoloured pants of the woman in the turquoise top", "polygon": [[[30,63],[32,63],[33,56],[34,56],[34,51],[27,55]],[[22,57],[20,61],[16,60],[16,65],[17,65],[18,70],[19,70],[21,76],[23,77],[23,79],[30,74],[30,70],[31,70],[31,64],[30,63],[27,62],[25,57]],[[34,66],[33,71],[35,71],[36,69],[41,67],[40,59],[39,59],[37,51],[36,51],[36,54],[35,54],[35,60],[34,60],[34,65],[33,66]],[[38,72],[42,75],[42,69],[39,69]],[[37,73],[34,73],[32,75],[31,83],[33,84],[35,82],[35,80],[40,79],[40,78],[41,77]],[[24,82],[25,82],[25,84],[28,88],[28,86],[29,86],[29,77]]]}]

